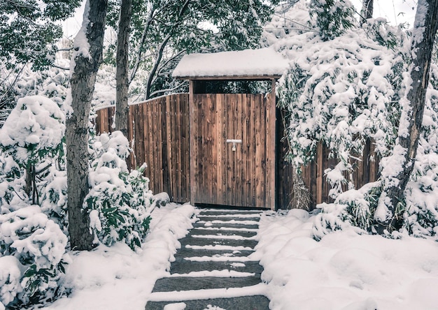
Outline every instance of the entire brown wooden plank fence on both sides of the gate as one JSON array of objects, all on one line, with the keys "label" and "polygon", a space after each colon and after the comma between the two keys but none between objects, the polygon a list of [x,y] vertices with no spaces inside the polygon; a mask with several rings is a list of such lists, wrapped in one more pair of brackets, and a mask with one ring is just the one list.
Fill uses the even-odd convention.
[{"label": "entire brown wooden plank fence on both sides of the gate", "polygon": [[[145,175],[150,177],[154,193],[165,191],[174,202],[190,201],[190,138],[188,94],[174,94],[154,98],[129,107],[129,140],[134,138],[132,166],[146,162]],[[97,111],[97,133],[111,132],[113,108]],[[283,138],[281,111],[277,110],[276,122],[276,207],[287,208],[293,199],[292,167],[284,161],[288,145]],[[316,160],[303,168],[303,178],[308,187],[313,206],[330,202],[330,187],[324,171],[337,165],[327,159],[329,150],[318,146]],[[353,173],[356,189],[379,177],[379,161],[374,158],[374,145],[368,141],[364,156],[355,161]]]}]

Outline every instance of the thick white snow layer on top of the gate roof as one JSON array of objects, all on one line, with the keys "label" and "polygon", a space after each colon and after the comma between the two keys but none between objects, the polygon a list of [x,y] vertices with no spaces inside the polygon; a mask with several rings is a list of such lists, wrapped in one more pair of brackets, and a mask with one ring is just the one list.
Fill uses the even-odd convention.
[{"label": "thick white snow layer on top of the gate roof", "polygon": [[271,48],[188,54],[172,77],[245,77],[282,75],[288,61]]}]

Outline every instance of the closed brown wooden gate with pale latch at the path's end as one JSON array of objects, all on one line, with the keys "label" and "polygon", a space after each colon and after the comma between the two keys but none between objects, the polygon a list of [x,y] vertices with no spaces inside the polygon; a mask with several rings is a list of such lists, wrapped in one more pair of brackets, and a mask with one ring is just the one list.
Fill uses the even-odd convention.
[{"label": "closed brown wooden gate with pale latch at the path's end", "polygon": [[190,102],[192,202],[273,207],[270,95],[193,94]]}]

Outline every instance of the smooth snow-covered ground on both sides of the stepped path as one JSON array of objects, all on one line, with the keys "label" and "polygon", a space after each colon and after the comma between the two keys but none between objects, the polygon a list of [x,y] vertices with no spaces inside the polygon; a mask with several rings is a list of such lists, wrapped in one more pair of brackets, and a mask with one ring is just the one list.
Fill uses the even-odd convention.
[{"label": "smooth snow-covered ground on both sides of the stepped path", "polygon": [[[195,214],[190,205],[155,209],[141,253],[125,244],[77,253],[68,270],[73,293],[45,309],[144,309]],[[313,216],[299,209],[262,215],[251,258],[264,266],[267,285],[257,293],[269,297],[271,309],[438,309],[433,239],[342,231],[316,242],[312,223]]]}]

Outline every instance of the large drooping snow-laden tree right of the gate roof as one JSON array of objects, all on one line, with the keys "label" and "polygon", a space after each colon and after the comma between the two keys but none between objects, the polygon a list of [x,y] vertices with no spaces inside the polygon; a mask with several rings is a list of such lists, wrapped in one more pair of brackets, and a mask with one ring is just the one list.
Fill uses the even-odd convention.
[{"label": "large drooping snow-laden tree right of the gate roof", "polygon": [[[295,29],[285,37],[269,31],[265,38],[290,58],[278,95],[281,107],[290,112],[292,160],[298,168],[307,165],[318,144],[327,145],[330,156],[339,159],[334,169],[326,171],[330,195],[336,198],[344,184],[353,188],[352,162],[362,154],[367,139],[375,141],[383,156],[393,145],[404,55],[372,38],[385,36],[385,42],[397,40],[399,45],[405,38],[400,29],[381,21],[369,20],[362,29],[354,23],[351,4],[346,3],[345,9],[337,4],[331,10],[327,3],[314,1],[311,14],[305,3],[297,3],[298,10],[288,16]],[[324,15],[337,13],[323,21]],[[329,25],[332,18],[346,18],[348,23],[339,21],[342,31],[334,31]]]}]

